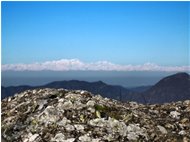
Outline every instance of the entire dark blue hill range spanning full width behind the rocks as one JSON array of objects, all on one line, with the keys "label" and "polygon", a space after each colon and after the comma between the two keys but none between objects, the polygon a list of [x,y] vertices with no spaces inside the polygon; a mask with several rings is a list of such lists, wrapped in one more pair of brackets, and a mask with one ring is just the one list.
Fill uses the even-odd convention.
[{"label": "entire dark blue hill range spanning full width behind the rocks", "polygon": [[[93,94],[120,101],[136,101],[139,103],[165,103],[190,99],[190,77],[187,73],[178,73],[163,78],[154,86],[137,87],[131,90],[122,86],[108,85],[102,81],[55,81],[43,86],[11,86],[1,87],[2,98],[34,88],[65,88],[69,90],[87,90]],[[144,92],[143,92],[144,90]]]}]

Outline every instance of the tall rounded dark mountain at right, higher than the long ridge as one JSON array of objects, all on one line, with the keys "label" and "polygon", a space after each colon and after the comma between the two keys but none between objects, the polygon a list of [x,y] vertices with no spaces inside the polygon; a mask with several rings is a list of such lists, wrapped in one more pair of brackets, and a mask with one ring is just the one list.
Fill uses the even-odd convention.
[{"label": "tall rounded dark mountain at right, higher than the long ridge", "polygon": [[190,76],[177,73],[163,78],[143,93],[146,103],[176,102],[190,99]]}]

